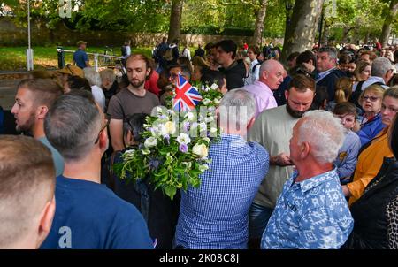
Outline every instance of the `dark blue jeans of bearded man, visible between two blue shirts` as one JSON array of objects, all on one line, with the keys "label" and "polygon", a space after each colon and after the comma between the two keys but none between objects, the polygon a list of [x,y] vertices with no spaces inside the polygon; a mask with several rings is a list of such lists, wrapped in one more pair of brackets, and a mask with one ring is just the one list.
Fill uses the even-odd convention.
[{"label": "dark blue jeans of bearded man, visible between two blue shirts", "polygon": [[249,210],[249,238],[261,239],[273,209],[252,203]]}]

